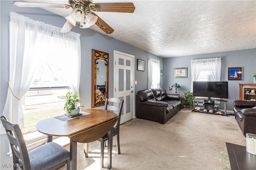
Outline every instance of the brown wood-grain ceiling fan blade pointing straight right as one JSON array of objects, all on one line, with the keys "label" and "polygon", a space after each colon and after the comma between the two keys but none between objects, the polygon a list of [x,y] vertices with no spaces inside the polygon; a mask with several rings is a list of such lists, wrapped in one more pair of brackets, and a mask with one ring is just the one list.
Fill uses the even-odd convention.
[{"label": "brown wood-grain ceiling fan blade pointing straight right", "polygon": [[116,2],[116,3],[94,3],[98,12],[129,12],[133,13],[135,6],[132,2]]}]

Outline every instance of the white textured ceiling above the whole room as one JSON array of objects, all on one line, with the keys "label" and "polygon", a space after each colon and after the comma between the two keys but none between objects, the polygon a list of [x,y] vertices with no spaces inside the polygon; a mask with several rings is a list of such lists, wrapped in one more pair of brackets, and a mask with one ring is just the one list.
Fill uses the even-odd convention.
[{"label": "white textured ceiling above the whole room", "polygon": [[[26,1],[68,4],[68,0]],[[96,14],[115,30],[108,36],[160,57],[256,48],[256,0],[93,2],[133,2],[134,13]],[[60,16],[71,12],[58,8],[46,10]],[[96,25],[90,29],[105,34]]]}]

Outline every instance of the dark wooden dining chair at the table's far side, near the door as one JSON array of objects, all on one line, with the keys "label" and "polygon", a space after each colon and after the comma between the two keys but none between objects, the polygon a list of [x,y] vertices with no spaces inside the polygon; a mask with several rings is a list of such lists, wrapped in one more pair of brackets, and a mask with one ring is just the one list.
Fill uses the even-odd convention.
[{"label": "dark wooden dining chair at the table's far side, near the door", "polygon": [[[113,105],[110,105],[108,103],[113,103]],[[114,106],[115,103],[119,104],[119,107]],[[116,111],[118,112],[118,120],[116,123],[116,127],[113,127],[113,137],[117,135],[116,140],[116,147],[118,150],[118,154],[120,154],[120,142],[119,142],[119,126],[120,126],[120,119],[121,119],[121,113],[123,108],[124,100],[120,100],[118,98],[107,98],[105,103],[105,110],[109,111]],[[101,168],[104,166],[104,147],[106,147],[106,141],[108,140],[108,134],[104,135],[102,138],[98,139],[100,141],[100,164]],[[86,149],[84,150],[85,157],[88,157],[88,149],[89,149],[89,143],[86,143]]]}]

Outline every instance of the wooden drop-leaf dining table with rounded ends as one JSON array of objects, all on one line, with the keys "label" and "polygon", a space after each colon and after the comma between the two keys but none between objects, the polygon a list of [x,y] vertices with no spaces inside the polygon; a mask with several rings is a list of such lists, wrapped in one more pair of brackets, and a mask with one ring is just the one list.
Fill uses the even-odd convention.
[{"label": "wooden drop-leaf dining table with rounded ends", "polygon": [[70,138],[70,169],[77,168],[77,142],[90,143],[108,133],[108,169],[112,168],[112,127],[118,116],[112,111],[85,109],[83,115],[68,118],[66,115],[38,121],[36,129],[47,135],[47,142],[53,136]]}]

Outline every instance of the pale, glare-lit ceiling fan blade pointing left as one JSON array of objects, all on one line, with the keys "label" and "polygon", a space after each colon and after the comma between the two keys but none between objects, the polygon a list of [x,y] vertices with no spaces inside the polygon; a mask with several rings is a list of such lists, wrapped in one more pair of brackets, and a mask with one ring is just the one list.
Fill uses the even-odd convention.
[{"label": "pale, glare-lit ceiling fan blade pointing left", "polygon": [[66,4],[48,4],[48,3],[36,3],[36,2],[13,2],[18,7],[40,7],[40,8],[67,8],[71,7]]}]

